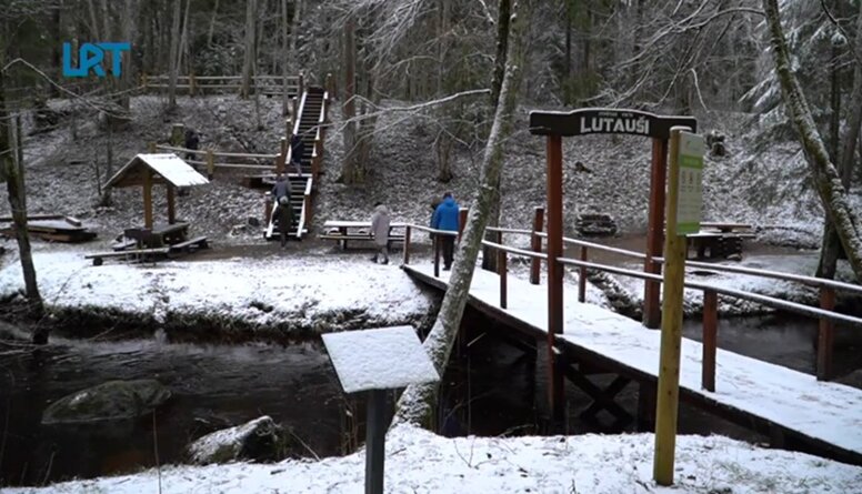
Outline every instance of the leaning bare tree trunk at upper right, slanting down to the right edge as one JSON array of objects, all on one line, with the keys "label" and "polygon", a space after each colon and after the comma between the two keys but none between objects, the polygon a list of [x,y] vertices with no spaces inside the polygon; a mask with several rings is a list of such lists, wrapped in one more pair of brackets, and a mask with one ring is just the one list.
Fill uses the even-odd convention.
[{"label": "leaning bare tree trunk at upper right, slanting down to the right edge", "polygon": [[832,163],[823,139],[814,124],[811,110],[795,74],[790,69],[784,32],[781,28],[778,0],[763,0],[763,10],[770,29],[770,41],[775,58],[775,69],[781,83],[786,111],[799,134],[805,160],[811,169],[814,185],[820,194],[823,209],[838,231],[841,245],[848,254],[856,280],[862,282],[862,231],[855,212],[846,198],[846,189],[841,184],[835,165]]}]

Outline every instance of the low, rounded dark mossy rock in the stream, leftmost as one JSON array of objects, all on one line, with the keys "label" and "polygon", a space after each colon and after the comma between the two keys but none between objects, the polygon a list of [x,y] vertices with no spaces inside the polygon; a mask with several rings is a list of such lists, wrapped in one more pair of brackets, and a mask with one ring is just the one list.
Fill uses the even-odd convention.
[{"label": "low, rounded dark mossy rock in the stream, leftmost", "polygon": [[169,397],[170,390],[156,380],[108,381],[51,403],[42,413],[42,424],[136,419]]}]

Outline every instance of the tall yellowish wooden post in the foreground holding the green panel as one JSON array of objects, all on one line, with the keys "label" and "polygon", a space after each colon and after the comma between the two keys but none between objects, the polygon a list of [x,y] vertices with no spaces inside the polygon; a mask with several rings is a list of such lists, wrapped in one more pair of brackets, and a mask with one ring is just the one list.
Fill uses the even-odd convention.
[{"label": "tall yellowish wooden post in the foreground holding the green panel", "polygon": [[682,290],[685,276],[685,235],[676,234],[680,130],[671,130],[668,181],[664,283],[662,291],[659,390],[655,404],[655,457],[653,477],[659,485],[673,484],[676,415],[680,401],[680,347],[682,342]]}]

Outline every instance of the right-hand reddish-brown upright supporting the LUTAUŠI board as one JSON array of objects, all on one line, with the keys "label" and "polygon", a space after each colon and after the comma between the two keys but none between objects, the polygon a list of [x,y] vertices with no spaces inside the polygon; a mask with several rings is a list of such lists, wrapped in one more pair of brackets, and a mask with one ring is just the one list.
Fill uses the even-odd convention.
[{"label": "right-hand reddish-brown upright supporting the LUTAU\u0160I board", "polygon": [[[661,258],[664,238],[664,184],[668,173],[668,141],[652,140],[652,168],[650,172],[650,212],[646,230],[646,260],[644,273],[661,274],[661,264],[653,258]],[[643,282],[643,325],[655,329],[661,323],[659,304],[661,284],[658,281]]]}]

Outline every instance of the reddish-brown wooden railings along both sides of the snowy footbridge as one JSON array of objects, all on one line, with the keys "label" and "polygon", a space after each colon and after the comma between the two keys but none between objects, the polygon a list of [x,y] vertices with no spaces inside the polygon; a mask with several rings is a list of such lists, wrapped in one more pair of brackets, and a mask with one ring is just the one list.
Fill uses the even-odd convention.
[{"label": "reddish-brown wooden railings along both sides of the snowy footbridge", "polygon": [[[409,263],[411,228],[429,231],[432,233],[453,234],[452,232],[441,232],[441,231],[424,228],[424,226],[409,225],[407,234],[404,236],[404,260],[403,260],[404,264]],[[508,273],[509,255],[529,258],[533,262],[542,262],[542,261],[547,262],[548,254],[542,252],[541,242],[539,243],[532,242],[531,250],[518,249],[518,248],[504,245],[503,233],[531,235],[533,239],[547,238],[547,233],[537,232],[532,230],[505,229],[505,228],[492,228],[492,226],[489,226],[487,230],[497,233],[497,239],[495,239],[497,242],[489,242],[485,240],[482,242],[482,244],[497,251],[497,255],[498,255],[497,273],[500,276],[500,306],[502,309],[507,309],[507,298],[508,298],[507,296],[508,295],[507,294],[507,291],[508,291],[507,273]],[[619,275],[632,276],[640,280],[651,280],[651,281],[656,281],[659,283],[663,282],[663,278],[659,274],[644,273],[642,271],[635,271],[635,270],[630,270],[625,268],[618,268],[618,266],[594,263],[589,261],[589,249],[612,252],[612,253],[617,253],[617,254],[621,254],[621,255],[625,255],[634,259],[640,259],[640,260],[645,259],[645,255],[642,253],[628,251],[624,249],[601,245],[593,242],[585,242],[582,240],[570,239],[570,238],[564,238],[563,241],[568,244],[579,245],[581,248],[579,252],[579,259],[571,259],[565,256],[557,259],[557,261],[562,264],[573,265],[578,268],[579,302],[584,302],[585,300],[588,270],[603,271],[603,272],[619,274]],[[434,248],[434,261],[435,261],[434,276],[435,278],[440,275],[438,270],[438,261],[437,261],[438,256],[439,256],[439,248],[435,242],[435,248]],[[658,259],[658,261],[663,262],[664,260]],[[686,265],[696,266],[696,268],[709,268],[713,271],[733,272],[739,274],[748,274],[748,275],[763,276],[763,278],[770,278],[775,280],[796,282],[796,283],[802,283],[810,286],[818,286],[821,289],[820,308],[813,308],[810,305],[791,302],[791,301],[778,299],[774,296],[763,295],[760,293],[748,292],[748,291],[730,289],[730,288],[714,286],[708,283],[701,283],[701,282],[685,281],[684,282],[685,288],[700,290],[703,292],[703,330],[702,330],[703,331],[703,335],[702,335],[702,340],[703,340],[702,341],[703,343],[702,362],[703,363],[702,363],[702,371],[701,371],[701,385],[703,386],[703,389],[708,391],[711,391],[711,392],[715,391],[715,355],[718,351],[719,295],[746,300],[746,301],[760,303],[762,305],[771,306],[774,309],[780,309],[788,312],[819,319],[820,331],[818,335],[819,344],[818,344],[818,360],[816,360],[818,380],[826,380],[831,377],[830,373],[831,373],[831,366],[832,366],[832,350],[833,350],[832,333],[834,330],[834,323],[841,322],[841,323],[846,323],[855,326],[862,326],[862,319],[848,315],[848,314],[842,314],[834,311],[836,291],[846,291],[846,292],[852,292],[856,294],[862,294],[862,286],[832,281],[832,280],[818,279],[813,276],[782,273],[778,271],[756,270],[751,268],[728,266],[723,264],[709,264],[703,262],[686,262]],[[531,282],[533,284],[539,283],[538,280],[532,279],[532,276],[531,276]]]}]

